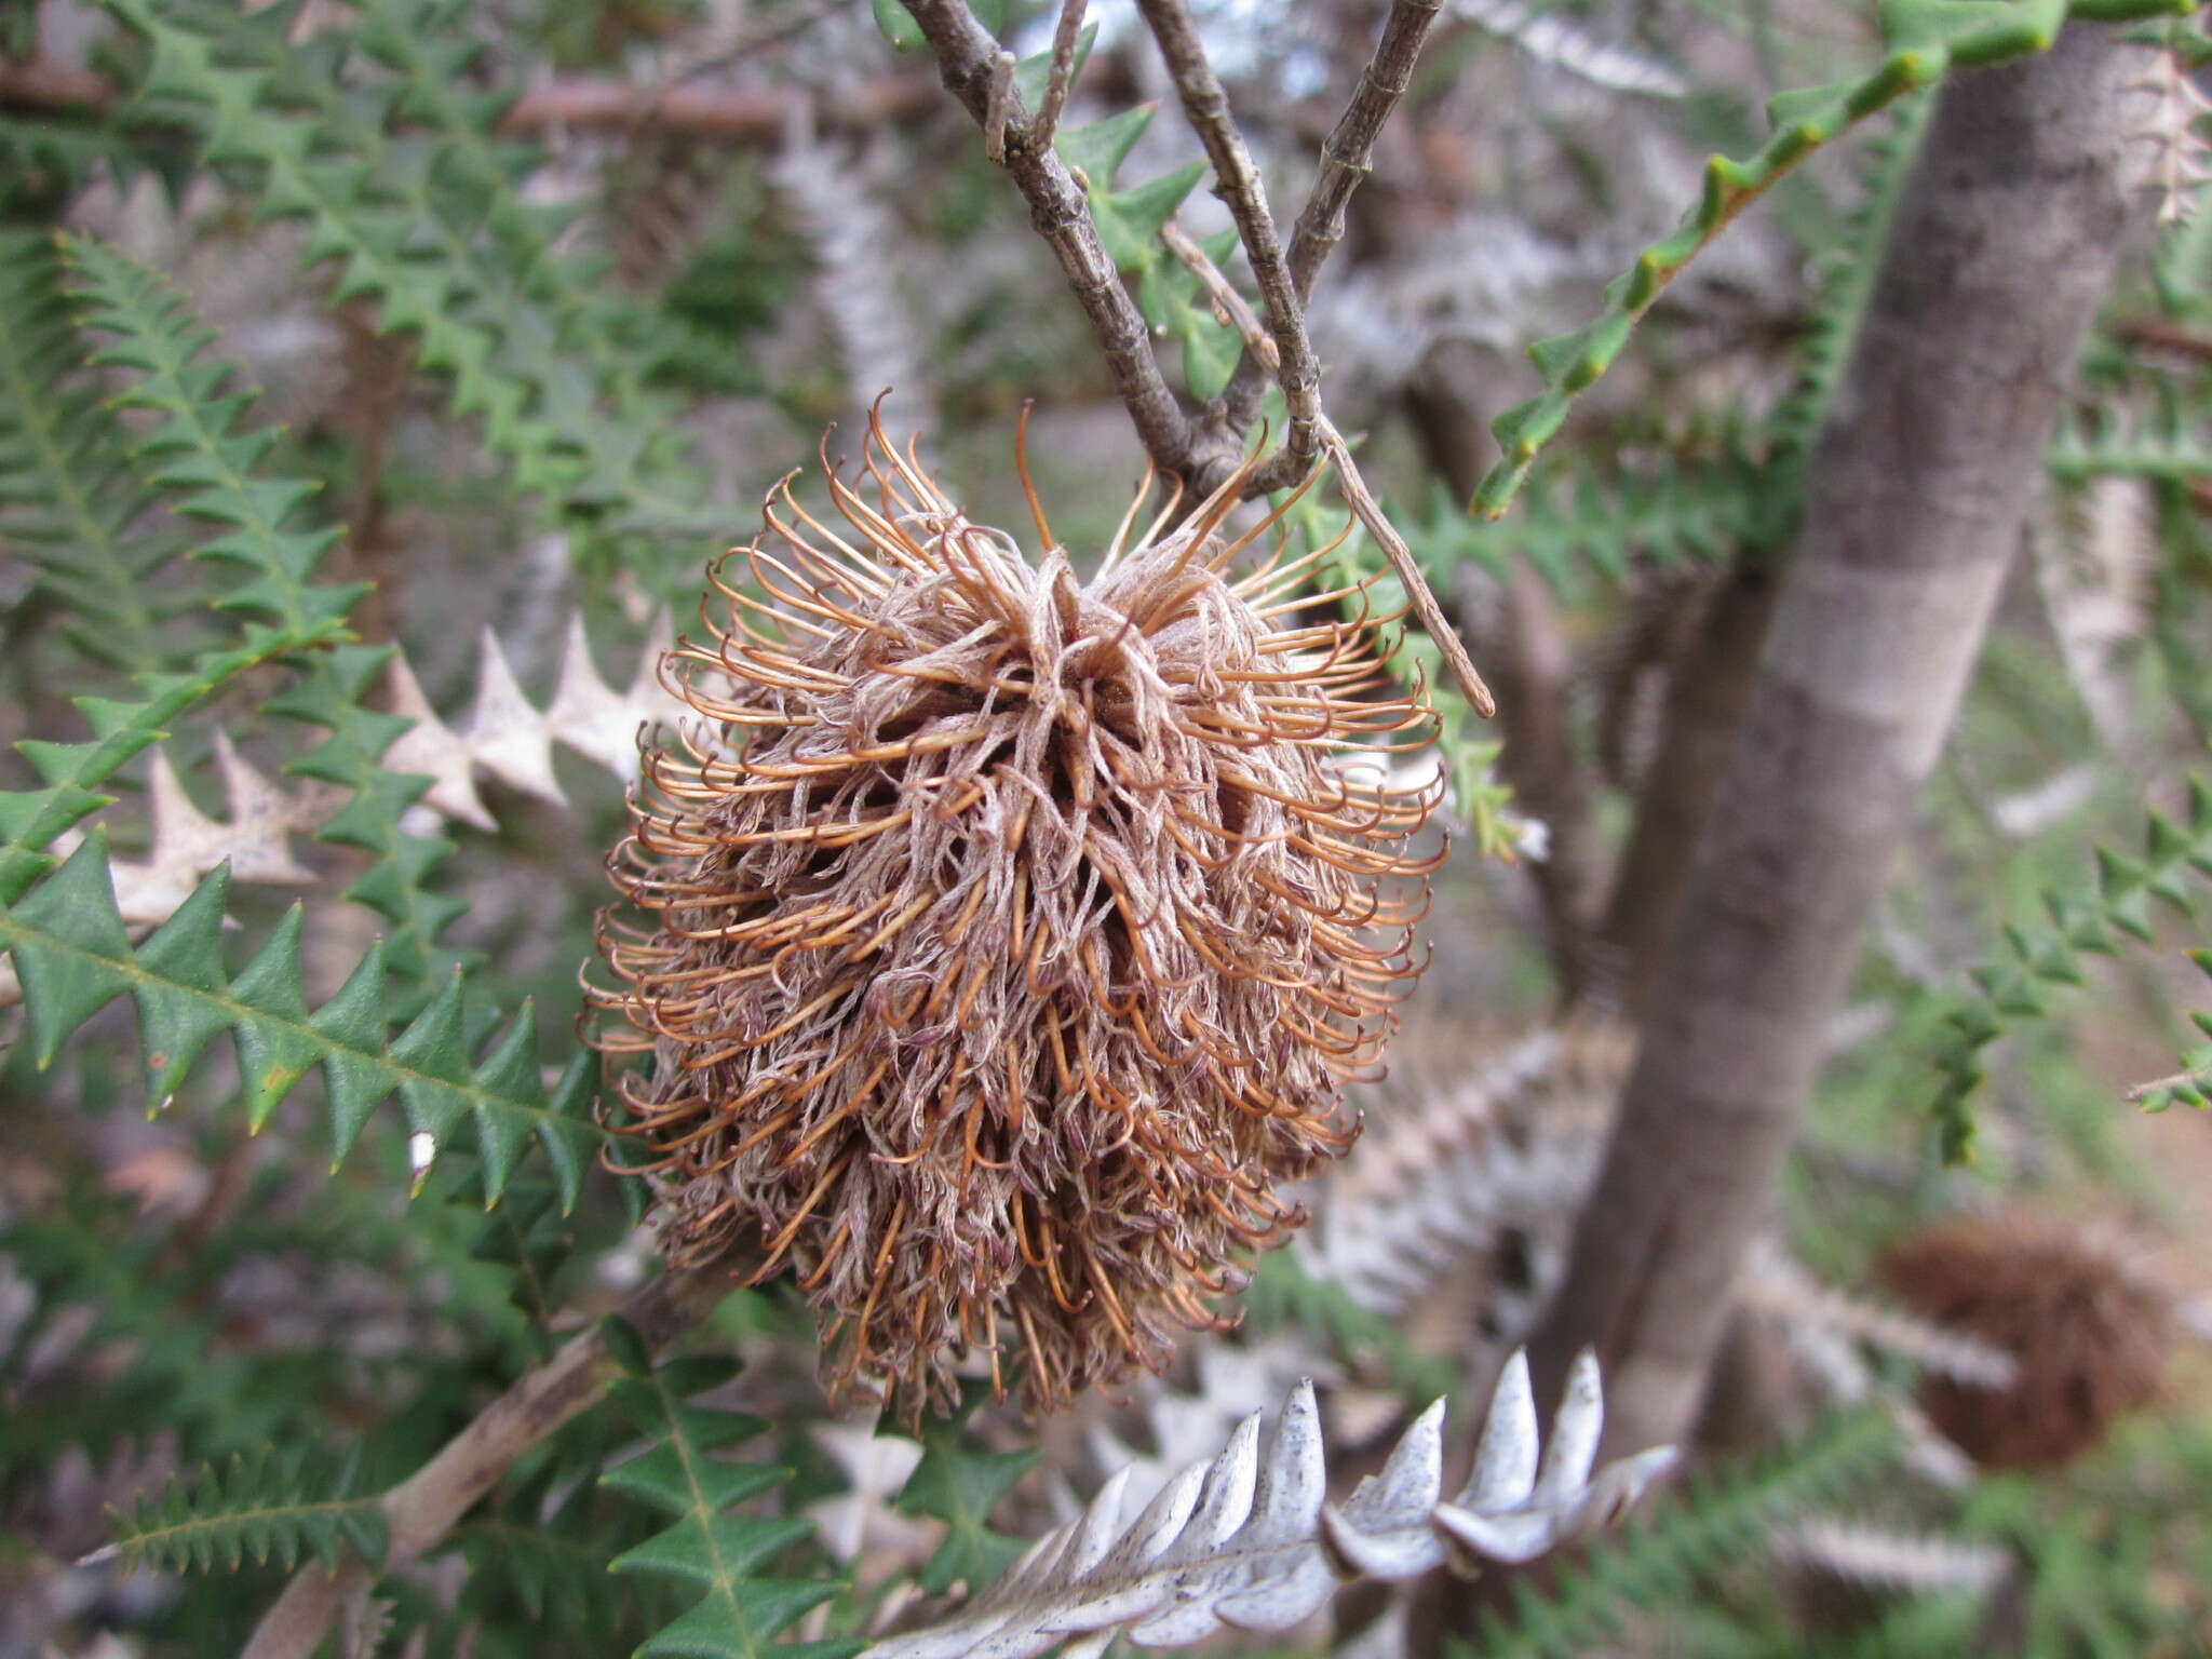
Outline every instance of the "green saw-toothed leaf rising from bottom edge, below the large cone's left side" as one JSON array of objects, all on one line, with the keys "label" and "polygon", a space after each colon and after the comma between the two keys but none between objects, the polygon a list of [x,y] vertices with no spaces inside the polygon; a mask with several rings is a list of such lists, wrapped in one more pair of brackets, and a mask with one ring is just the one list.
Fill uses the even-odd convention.
[{"label": "green saw-toothed leaf rising from bottom edge, below the large cone's left side", "polygon": [[814,1526],[730,1513],[792,1478],[790,1469],[714,1455],[768,1427],[761,1418],[692,1398],[719,1389],[737,1376],[737,1365],[697,1356],[655,1367],[644,1343],[622,1321],[608,1321],[608,1347],[628,1371],[615,1385],[615,1402],[653,1436],[653,1447],[608,1469],[602,1484],[675,1515],[666,1531],[617,1555],[611,1568],[672,1579],[701,1593],[688,1613],[637,1650],[641,1659],[754,1659],[770,1650],[794,1659],[843,1659],[858,1652],[865,1644],[774,1641],[841,1586],[830,1579],[757,1575],[757,1568],[774,1562]]}]

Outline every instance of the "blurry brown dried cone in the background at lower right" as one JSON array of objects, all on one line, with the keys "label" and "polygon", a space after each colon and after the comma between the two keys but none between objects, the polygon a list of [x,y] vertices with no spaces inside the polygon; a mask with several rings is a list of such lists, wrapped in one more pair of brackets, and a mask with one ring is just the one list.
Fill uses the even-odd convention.
[{"label": "blurry brown dried cone in the background at lower right", "polygon": [[1966,1455],[2044,1469],[2104,1442],[2159,1389],[2174,1343],[2168,1294],[2112,1245],[2048,1219],[1966,1217],[1893,1245],[1878,1265],[1913,1312],[2020,1363],[2008,1389],[1931,1376],[1922,1407]]}]

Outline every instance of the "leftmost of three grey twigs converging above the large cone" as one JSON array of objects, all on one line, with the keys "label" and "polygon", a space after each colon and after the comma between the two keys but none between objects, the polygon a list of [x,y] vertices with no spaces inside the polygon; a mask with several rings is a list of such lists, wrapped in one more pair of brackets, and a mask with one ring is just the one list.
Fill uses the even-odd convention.
[{"label": "leftmost of three grey twigs converging above the large cone", "polygon": [[[945,88],[978,124],[987,124],[998,42],[975,22],[964,0],[902,0],[902,4],[936,53]],[[1060,270],[1066,274],[1068,288],[1075,290],[1075,301],[1091,319],[1115,389],[1137,425],[1137,438],[1161,471],[1188,478],[1192,471],[1190,422],[1183,420],[1183,409],[1159,372],[1152,334],[1128,290],[1121,288],[1121,274],[1106,254],[1106,243],[1099,241],[1084,188],[1051,148],[1035,142],[1020,93],[1011,93],[1006,100],[1004,131],[1002,166],[1006,177],[1029,201],[1031,223],[1060,259]]]}]

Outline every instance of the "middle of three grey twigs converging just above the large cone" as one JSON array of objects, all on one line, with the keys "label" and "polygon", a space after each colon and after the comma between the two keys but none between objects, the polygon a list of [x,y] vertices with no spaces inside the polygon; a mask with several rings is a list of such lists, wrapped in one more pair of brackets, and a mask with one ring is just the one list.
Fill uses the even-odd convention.
[{"label": "middle of three grey twigs converging just above the large cone", "polygon": [[[1305,336],[1305,307],[1292,290],[1290,265],[1283,263],[1283,243],[1274,234],[1267,190],[1252,164],[1252,153],[1245,148],[1243,133],[1237,131],[1237,119],[1230,115],[1230,97],[1221,88],[1221,77],[1206,60],[1206,46],[1199,42],[1190,9],[1183,0],[1137,0],[1137,11],[1144,13],[1152,40],[1159,42],[1159,55],[1183,100],[1183,117],[1199,135],[1199,144],[1206,146],[1206,159],[1214,166],[1214,190],[1237,221],[1237,237],[1243,241],[1245,261],[1259,281],[1267,332],[1274,336],[1274,349],[1281,358],[1274,378],[1283,387],[1290,427],[1283,434],[1283,451],[1263,471],[1276,484],[1303,478],[1321,447],[1321,363],[1314,361],[1314,345]],[[1252,414],[1256,411],[1259,398],[1252,398]],[[1250,414],[1237,422],[1234,411],[1221,405],[1219,420],[1230,436],[1237,436],[1250,425]],[[1208,489],[1219,480],[1199,478],[1197,482]]]}]

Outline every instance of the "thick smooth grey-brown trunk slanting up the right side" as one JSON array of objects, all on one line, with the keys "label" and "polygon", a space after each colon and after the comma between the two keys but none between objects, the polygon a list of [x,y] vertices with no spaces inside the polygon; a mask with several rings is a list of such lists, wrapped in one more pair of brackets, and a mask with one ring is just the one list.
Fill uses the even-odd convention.
[{"label": "thick smooth grey-brown trunk slanting up the right side", "polygon": [[1595,1343],[1615,1447],[1697,1409],[1743,1245],[2020,540],[2128,226],[2117,31],[1962,73],[1809,462],[1805,524],[1537,1358]]}]

